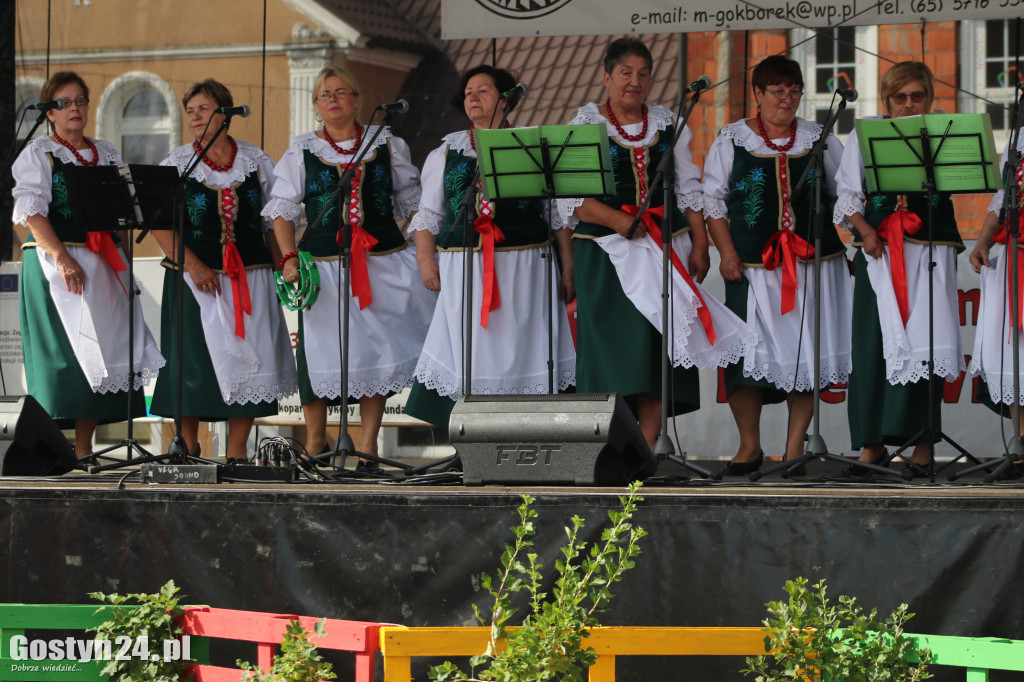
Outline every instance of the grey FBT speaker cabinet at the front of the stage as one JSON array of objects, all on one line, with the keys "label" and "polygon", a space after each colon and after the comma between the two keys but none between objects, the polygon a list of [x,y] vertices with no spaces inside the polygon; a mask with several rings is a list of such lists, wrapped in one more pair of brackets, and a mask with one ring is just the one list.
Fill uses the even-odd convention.
[{"label": "grey FBT speaker cabinet at the front of the stage", "polygon": [[468,395],[449,435],[466,485],[625,485],[657,468],[617,393]]}]

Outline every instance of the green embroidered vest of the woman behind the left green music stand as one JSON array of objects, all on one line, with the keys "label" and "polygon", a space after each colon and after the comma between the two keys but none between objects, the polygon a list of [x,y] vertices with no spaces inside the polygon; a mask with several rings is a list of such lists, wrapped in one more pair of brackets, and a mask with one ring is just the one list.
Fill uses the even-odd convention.
[{"label": "green embroidered vest of the woman behind the left green music stand", "polygon": [[[472,230],[473,249],[480,248],[480,236],[473,229],[473,222],[480,215],[477,198],[473,200],[474,207],[468,219],[460,220],[458,225],[453,224],[459,215],[463,193],[473,181],[475,173],[475,158],[449,147],[444,155],[444,224],[437,238],[437,248],[440,251],[464,249],[467,224]],[[495,202],[492,219],[505,235],[505,241],[495,246],[496,251],[522,249],[548,242],[544,203],[539,199],[500,199]]]}]

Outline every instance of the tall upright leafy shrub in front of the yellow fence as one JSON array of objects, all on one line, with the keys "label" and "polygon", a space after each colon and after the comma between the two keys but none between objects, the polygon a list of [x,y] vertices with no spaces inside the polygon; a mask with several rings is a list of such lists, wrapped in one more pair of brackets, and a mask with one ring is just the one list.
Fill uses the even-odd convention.
[{"label": "tall upright leafy shrub in front of the yellow fence", "polygon": [[[538,555],[530,552],[536,535],[530,507],[534,498],[522,496],[519,525],[512,528],[513,540],[502,554],[502,568],[494,576],[483,574],[480,583],[494,598],[488,614],[474,604],[473,611],[481,625],[490,627],[486,650],[470,658],[478,676],[470,677],[451,662],[430,670],[430,679],[438,682],[539,682],[563,680],[582,682],[586,670],[594,665],[597,654],[584,647],[588,628],[598,624],[597,613],[604,611],[611,600],[611,586],[623,579],[640,554],[640,539],[646,531],[633,525],[640,483],[630,485],[629,496],[620,497],[622,510],[609,510],[609,527],[601,532],[600,542],[587,544],[580,539],[585,520],[573,516],[565,528],[568,542],[561,548],[562,557],[555,562],[555,582],[551,595],[542,591],[543,568]],[[522,593],[528,601],[528,612],[522,625],[514,630],[507,626],[517,612],[511,596]]]}]

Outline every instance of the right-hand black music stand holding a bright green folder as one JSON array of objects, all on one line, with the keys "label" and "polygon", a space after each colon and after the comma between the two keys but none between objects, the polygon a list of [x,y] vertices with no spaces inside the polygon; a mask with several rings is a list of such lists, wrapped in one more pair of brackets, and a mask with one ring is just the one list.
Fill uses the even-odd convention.
[{"label": "right-hand black music stand holding a bright green folder", "polygon": [[[864,172],[870,193],[924,194],[928,205],[928,426],[877,464],[858,462],[870,471],[892,473],[886,467],[895,458],[906,462],[903,477],[924,473],[935,481],[935,442],[945,440],[958,453],[943,468],[962,458],[980,462],[935,426],[935,262],[934,204],[937,193],[976,194],[997,188],[992,128],[987,114],[927,114],[899,119],[858,121]],[[885,160],[885,161],[883,161]],[[903,452],[928,438],[928,467],[922,468]]]}]

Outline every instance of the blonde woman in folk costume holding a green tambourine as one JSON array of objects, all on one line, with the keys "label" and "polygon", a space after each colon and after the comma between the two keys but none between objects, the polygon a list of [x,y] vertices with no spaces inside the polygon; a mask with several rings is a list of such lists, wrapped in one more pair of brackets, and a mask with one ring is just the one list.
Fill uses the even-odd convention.
[{"label": "blonde woman in folk costume holding a green tambourine", "polygon": [[[296,224],[305,205],[308,225],[328,206],[344,171],[376,128],[358,121],[359,86],[347,71],[327,67],[313,84],[319,130],[292,139],[274,168],[273,200],[263,215],[273,218],[284,276],[298,276]],[[296,357],[299,396],[306,422],[306,450],[325,452],[328,403],[358,400],[360,453],[377,454],[377,434],[387,396],[413,383],[435,295],[419,284],[416,256],[407,248],[395,214],[408,216],[420,201],[419,173],[409,146],[385,128],[352,175],[347,196],[331,206],[310,236],[308,251],[319,270],[321,291],[312,309],[299,313]],[[344,213],[343,213],[344,212]],[[341,385],[341,310],[344,301],[339,244],[352,230],[349,302],[348,386]],[[359,460],[359,470],[376,472],[376,462]]]}]

